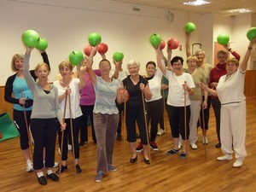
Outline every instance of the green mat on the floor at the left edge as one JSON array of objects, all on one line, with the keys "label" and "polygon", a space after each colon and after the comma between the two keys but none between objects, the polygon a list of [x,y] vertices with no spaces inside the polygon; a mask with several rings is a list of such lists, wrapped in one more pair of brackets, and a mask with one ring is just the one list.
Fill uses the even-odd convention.
[{"label": "green mat on the floor at the left edge", "polygon": [[20,135],[14,122],[9,117],[9,113],[0,114],[0,132],[2,134],[0,142],[9,138],[18,137]]}]

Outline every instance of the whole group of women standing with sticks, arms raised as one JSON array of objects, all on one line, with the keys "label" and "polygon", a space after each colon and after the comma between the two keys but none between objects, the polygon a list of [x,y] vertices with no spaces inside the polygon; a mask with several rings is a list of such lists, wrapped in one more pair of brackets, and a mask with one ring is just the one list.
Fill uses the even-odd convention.
[{"label": "whole group of women standing with sticks, arms raised", "polygon": [[[26,47],[25,55],[14,55],[12,68],[15,74],[7,79],[5,99],[14,103],[14,120],[20,127],[20,148],[26,159],[26,171],[35,170],[38,183],[43,185],[47,184],[46,177],[58,181],[58,174],[67,170],[67,144],[71,143],[75,172],[81,173],[79,146],[88,141],[90,117],[92,138],[97,145],[96,182],[101,182],[108,171],[117,170],[113,166],[113,146],[116,138],[122,140],[121,113],[124,110],[132,164],[137,162],[137,152],[141,151],[144,162],[150,164],[149,149],[158,150],[156,137],[165,132],[162,120],[165,108],[173,138],[173,147],[166,154],[179,154],[182,148],[180,158],[185,159],[188,155],[187,140],[191,148],[197,148],[198,126],[202,129],[202,143],[208,143],[211,103],[218,135],[216,148],[221,147],[224,153],[218,160],[232,160],[234,150],[236,162],[233,166],[241,166],[247,155],[244,76],[256,39],[250,42],[240,67],[240,56],[225,45],[224,48],[236,58],[228,59],[227,52],[221,50],[218,52],[219,62],[213,68],[204,62],[205,52],[202,49],[196,50],[195,55],[190,53],[189,39],[190,34],[186,34],[187,69],[183,68],[182,57],[172,58],[172,50],[167,49],[166,58],[163,51],[156,47],[157,64],[148,61],[145,76],[139,74],[139,61],[127,63],[128,74],[122,68],[122,61],[113,60],[115,68],[111,69],[111,62],[105,55],[102,55],[98,69],[94,70],[92,63],[96,46],[89,58],[84,58],[77,66],[75,74],[70,61],[62,61],[59,65],[61,79],[50,84],[49,60],[45,51],[41,51],[44,62],[38,63],[31,71],[29,60],[32,48]],[[163,77],[168,84],[163,84]],[[162,90],[168,90],[168,95],[162,94]],[[238,114],[240,119],[237,119]],[[33,160],[30,158],[32,146],[29,146],[27,125],[30,125],[32,133]],[[141,140],[138,146],[137,128]],[[57,133],[61,166],[53,172]],[[47,169],[46,177],[44,167]]]}]

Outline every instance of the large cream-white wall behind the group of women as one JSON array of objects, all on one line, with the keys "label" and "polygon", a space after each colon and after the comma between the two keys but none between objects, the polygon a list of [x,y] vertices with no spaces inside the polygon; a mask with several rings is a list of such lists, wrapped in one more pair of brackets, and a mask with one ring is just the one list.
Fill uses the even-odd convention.
[{"label": "large cream-white wall behind the group of women", "polygon": [[[132,11],[133,7],[139,7],[141,11]],[[166,19],[167,11],[174,14],[173,22]],[[210,21],[206,23],[205,20]],[[195,22],[197,27],[191,44],[202,43],[207,53],[212,53],[212,36],[216,34],[216,25],[212,30],[212,15],[195,15],[108,0],[0,0],[0,65],[3,69],[0,70],[0,85],[5,84],[13,73],[10,69],[12,56],[25,53],[20,37],[27,29],[36,30],[47,38],[47,53],[52,69],[49,80],[53,81],[59,63],[67,59],[72,50],[83,51],[91,32],[99,32],[102,42],[108,44],[106,55],[110,61],[113,53],[121,50],[125,55],[125,68],[125,64],[135,58],[141,62],[141,74],[145,73],[147,61],[155,61],[154,49],[149,44],[149,36],[154,32],[160,33],[165,41],[177,38],[183,50],[175,49],[172,55],[186,58],[183,25],[188,21]],[[95,67],[100,58],[100,55],[96,55]],[[211,54],[207,55],[207,60],[212,60]],[[41,56],[37,50],[33,50],[31,67],[34,68],[39,61],[42,61]]]}]

